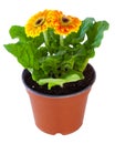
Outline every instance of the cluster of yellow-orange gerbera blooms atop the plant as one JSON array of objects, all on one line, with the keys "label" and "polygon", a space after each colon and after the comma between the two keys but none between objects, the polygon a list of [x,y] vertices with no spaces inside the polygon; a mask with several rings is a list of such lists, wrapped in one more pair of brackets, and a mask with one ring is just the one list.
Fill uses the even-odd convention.
[{"label": "cluster of yellow-orange gerbera blooms atop the plant", "polygon": [[77,32],[81,23],[79,18],[65,16],[62,11],[44,10],[30,18],[25,24],[25,33],[34,38],[52,28],[56,34],[67,35],[73,31]]}]

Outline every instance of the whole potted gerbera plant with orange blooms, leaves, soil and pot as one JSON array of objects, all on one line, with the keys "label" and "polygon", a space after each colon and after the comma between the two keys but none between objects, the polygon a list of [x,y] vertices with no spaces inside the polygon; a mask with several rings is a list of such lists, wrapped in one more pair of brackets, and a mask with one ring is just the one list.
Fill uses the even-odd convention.
[{"label": "whole potted gerbera plant with orange blooms, leaves, soil and pot", "polygon": [[35,124],[49,133],[69,134],[83,123],[95,70],[88,63],[100,47],[107,21],[80,20],[59,10],[43,10],[24,27],[12,25],[18,42],[4,44],[24,68]]}]

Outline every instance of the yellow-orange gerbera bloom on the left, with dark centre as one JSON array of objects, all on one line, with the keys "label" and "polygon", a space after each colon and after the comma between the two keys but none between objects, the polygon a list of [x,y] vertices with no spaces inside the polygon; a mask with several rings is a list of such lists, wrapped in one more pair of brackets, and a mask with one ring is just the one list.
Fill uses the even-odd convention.
[{"label": "yellow-orange gerbera bloom on the left, with dark centre", "polygon": [[49,10],[40,11],[30,18],[25,24],[25,33],[28,37],[38,37],[41,32],[48,29],[46,16]]}]

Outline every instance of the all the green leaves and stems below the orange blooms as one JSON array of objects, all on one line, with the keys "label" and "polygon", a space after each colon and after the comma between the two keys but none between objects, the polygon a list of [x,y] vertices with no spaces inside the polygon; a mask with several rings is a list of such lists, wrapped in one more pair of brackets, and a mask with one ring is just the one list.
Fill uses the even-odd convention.
[{"label": "all the green leaves and stems below the orange blooms", "polygon": [[77,32],[63,37],[53,28],[48,28],[32,38],[27,35],[24,27],[12,25],[9,32],[18,42],[4,44],[4,48],[31,72],[35,82],[40,85],[48,83],[50,90],[84,79],[83,71],[95,55],[95,48],[100,47],[107,29],[106,21],[86,18]]}]

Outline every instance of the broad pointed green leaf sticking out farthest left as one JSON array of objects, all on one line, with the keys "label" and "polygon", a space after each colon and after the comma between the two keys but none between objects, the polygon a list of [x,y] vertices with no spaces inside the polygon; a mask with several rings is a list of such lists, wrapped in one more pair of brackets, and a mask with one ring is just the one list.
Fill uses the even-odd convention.
[{"label": "broad pointed green leaf sticking out farthest left", "polygon": [[30,44],[23,44],[18,42],[12,44],[6,44],[6,49],[12,53],[24,68],[36,69],[39,66],[35,51]]}]

